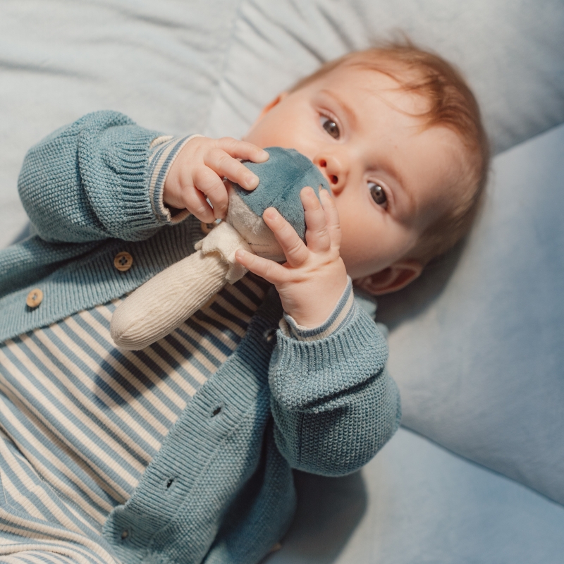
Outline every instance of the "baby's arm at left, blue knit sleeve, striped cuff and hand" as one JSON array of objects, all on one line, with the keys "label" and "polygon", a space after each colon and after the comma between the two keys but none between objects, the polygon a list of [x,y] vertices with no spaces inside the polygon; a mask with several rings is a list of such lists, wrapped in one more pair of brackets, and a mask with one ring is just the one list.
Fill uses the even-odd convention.
[{"label": "baby's arm at left, blue knit sleeve, striped cuff and hand", "polygon": [[99,111],[32,147],[18,187],[39,236],[69,243],[142,240],[180,219],[171,219],[166,205],[210,221],[204,194],[219,202],[223,176],[254,188],[236,158],[268,158],[259,147],[228,138],[168,137],[154,148],[159,135],[123,114]]}]

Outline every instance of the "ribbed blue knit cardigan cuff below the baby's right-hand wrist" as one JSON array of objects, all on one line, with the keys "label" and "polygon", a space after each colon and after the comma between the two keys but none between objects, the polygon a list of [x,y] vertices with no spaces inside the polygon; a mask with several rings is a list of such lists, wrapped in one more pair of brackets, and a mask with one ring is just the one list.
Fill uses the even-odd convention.
[{"label": "ribbed blue knit cardigan cuff below the baby's right-hand wrist", "polygon": [[381,373],[387,359],[386,339],[355,307],[350,321],[326,338],[298,341],[278,331],[269,384],[283,407],[302,410]]}]

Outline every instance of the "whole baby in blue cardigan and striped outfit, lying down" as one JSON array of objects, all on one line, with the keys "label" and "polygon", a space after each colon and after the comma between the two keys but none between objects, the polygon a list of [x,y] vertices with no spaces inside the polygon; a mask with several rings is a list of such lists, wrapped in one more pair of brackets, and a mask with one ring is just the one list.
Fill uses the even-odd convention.
[{"label": "whole baby in blue cardigan and striped outfit, lying down", "polygon": [[[271,146],[331,186],[302,190],[307,245],[267,209],[284,264],[238,252],[253,274],[157,343],[116,348],[123,296],[194,252],[226,214],[223,177],[252,190],[238,159]],[[293,468],[354,472],[400,422],[353,281],[379,295],[417,278],[469,228],[487,166],[470,90],[412,46],[326,64],[244,141],[99,112],[32,148],[20,195],[37,234],[0,252],[1,553],[258,562],[292,520]]]}]

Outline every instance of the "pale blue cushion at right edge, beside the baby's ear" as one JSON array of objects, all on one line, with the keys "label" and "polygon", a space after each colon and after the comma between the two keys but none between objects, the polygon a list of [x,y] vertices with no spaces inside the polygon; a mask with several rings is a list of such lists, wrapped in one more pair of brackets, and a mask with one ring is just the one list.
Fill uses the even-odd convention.
[{"label": "pale blue cushion at right edge, beside the baby's ear", "polygon": [[[496,157],[467,245],[379,299],[403,424],[564,503],[564,125]],[[453,266],[456,266],[455,269]]]}]

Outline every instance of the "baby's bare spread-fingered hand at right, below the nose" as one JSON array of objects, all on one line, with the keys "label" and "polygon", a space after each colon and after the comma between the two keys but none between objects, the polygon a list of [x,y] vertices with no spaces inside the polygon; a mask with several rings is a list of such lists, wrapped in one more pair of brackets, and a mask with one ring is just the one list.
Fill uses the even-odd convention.
[{"label": "baby's bare spread-fingered hand at right, below the nose", "polygon": [[320,191],[319,203],[312,188],[300,193],[305,212],[307,246],[295,229],[276,209],[262,215],[274,232],[287,262],[274,261],[237,251],[235,257],[245,268],[276,286],[286,313],[302,326],[321,325],[333,312],[347,286],[347,271],[339,247],[341,226],[329,192]]}]

